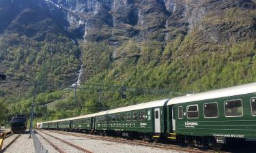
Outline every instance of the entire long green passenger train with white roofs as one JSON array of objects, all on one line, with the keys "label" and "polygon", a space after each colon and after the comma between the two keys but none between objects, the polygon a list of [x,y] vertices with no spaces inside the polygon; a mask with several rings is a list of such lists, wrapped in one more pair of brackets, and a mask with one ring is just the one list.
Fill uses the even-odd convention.
[{"label": "entire long green passenger train with white roofs", "polygon": [[256,83],[42,123],[42,129],[221,148],[256,140]]}]

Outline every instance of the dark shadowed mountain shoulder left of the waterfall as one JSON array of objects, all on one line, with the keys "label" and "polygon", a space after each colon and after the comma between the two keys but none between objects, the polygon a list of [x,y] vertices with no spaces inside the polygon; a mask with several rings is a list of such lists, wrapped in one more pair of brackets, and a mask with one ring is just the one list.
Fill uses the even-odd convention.
[{"label": "dark shadowed mountain shoulder left of the waterfall", "polygon": [[0,1],[0,71],[8,75],[6,88],[22,93],[43,84],[42,92],[45,84],[61,87],[76,80],[79,49],[45,6],[44,1]]}]

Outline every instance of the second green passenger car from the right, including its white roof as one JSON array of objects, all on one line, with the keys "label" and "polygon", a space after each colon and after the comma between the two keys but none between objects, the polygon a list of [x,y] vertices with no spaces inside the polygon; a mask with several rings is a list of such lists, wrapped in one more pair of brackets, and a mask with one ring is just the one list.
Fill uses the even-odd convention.
[{"label": "second green passenger car from the right, including its white roof", "polygon": [[166,104],[169,99],[111,109],[96,114],[96,131],[114,132],[129,137],[160,137],[165,133]]}]

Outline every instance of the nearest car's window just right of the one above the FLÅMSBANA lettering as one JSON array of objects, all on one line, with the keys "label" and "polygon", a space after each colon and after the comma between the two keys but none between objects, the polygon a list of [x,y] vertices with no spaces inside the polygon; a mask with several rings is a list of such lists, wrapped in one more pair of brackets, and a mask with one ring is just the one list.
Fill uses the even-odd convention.
[{"label": "nearest car's window just right of the one above the FL\u00c5MSBANA lettering", "polygon": [[205,103],[203,112],[205,118],[218,118],[218,103]]}]

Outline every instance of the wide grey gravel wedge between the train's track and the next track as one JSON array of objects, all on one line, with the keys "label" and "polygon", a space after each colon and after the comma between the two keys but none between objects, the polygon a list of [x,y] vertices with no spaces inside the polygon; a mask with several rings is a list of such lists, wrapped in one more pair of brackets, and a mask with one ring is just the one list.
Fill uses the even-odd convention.
[{"label": "wide grey gravel wedge between the train's track and the next track", "polygon": [[[74,136],[70,136],[70,135],[62,135],[59,133],[53,133],[53,132],[49,132],[49,131],[44,131],[44,132],[54,135],[55,137],[59,137],[60,139],[64,139],[70,143],[74,143],[77,146],[79,146],[81,148],[85,148],[86,150],[89,150],[94,153],[120,153],[120,152],[122,152],[122,153],[133,153],[133,152],[185,153],[185,152],[181,152],[181,151],[177,151],[177,150],[161,150],[161,149],[150,148],[150,147],[145,147],[145,146],[135,146],[135,145],[116,143],[116,142],[111,142],[111,141],[88,139],[85,137],[74,137]],[[53,137],[51,137],[50,139],[53,139]],[[76,150],[76,149],[72,148],[72,150]],[[52,150],[50,150],[50,148],[49,148],[49,152],[51,152],[51,151]],[[71,151],[71,150],[68,150],[68,151]],[[56,152],[56,151],[53,150],[53,152]],[[76,151],[72,151],[72,152],[76,152]]]}]

